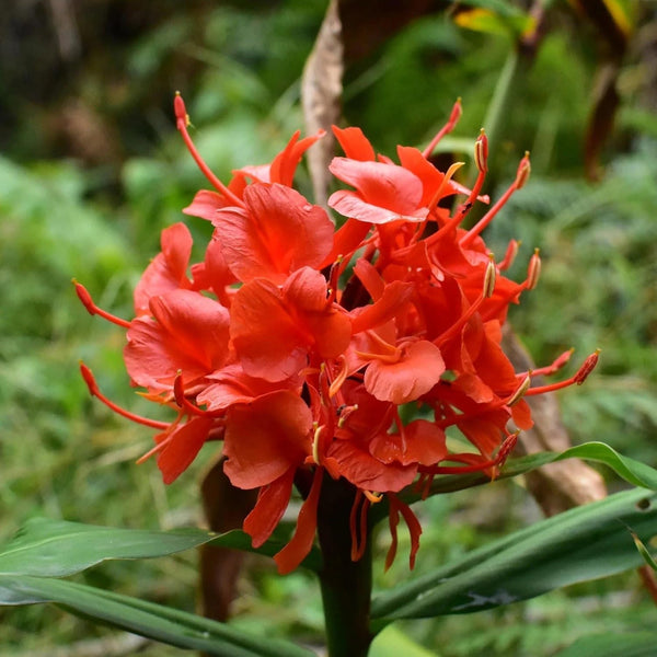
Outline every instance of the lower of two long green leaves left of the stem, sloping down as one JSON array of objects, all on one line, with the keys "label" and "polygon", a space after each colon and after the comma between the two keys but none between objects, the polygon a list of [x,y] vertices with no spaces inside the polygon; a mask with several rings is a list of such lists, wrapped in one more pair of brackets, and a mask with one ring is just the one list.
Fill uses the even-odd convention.
[{"label": "lower of two long green leaves left of the stem, sloping down", "polygon": [[65,579],[0,575],[0,599],[55,602],[68,611],[181,648],[221,657],[311,657],[292,643],[257,637],[193,613],[177,611]]}]

